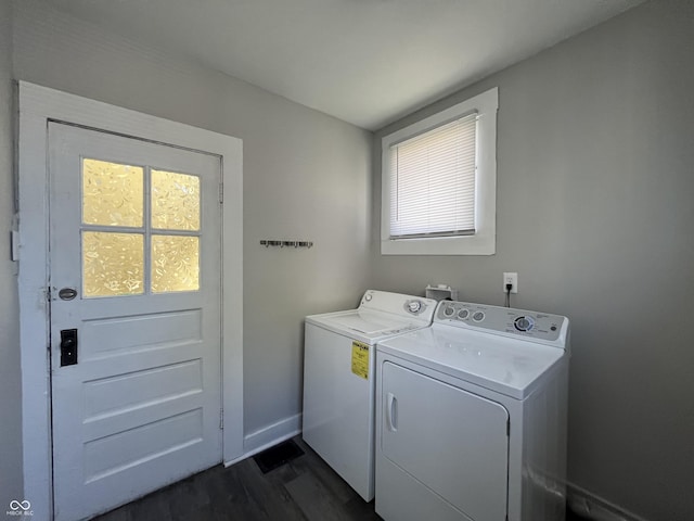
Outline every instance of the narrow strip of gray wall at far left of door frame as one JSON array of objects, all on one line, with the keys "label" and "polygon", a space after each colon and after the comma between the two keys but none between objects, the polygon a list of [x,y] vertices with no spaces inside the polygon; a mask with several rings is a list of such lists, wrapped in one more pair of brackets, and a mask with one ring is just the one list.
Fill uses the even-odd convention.
[{"label": "narrow strip of gray wall at far left of door frame", "polygon": [[11,21],[11,1],[0,0],[0,511],[23,499],[17,284],[9,241],[14,214]]}]

